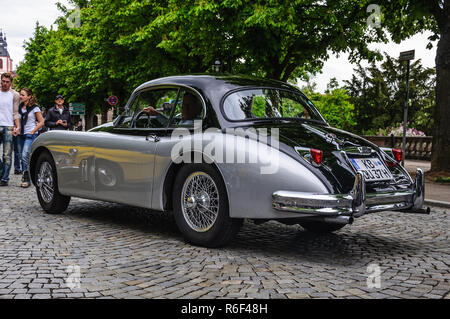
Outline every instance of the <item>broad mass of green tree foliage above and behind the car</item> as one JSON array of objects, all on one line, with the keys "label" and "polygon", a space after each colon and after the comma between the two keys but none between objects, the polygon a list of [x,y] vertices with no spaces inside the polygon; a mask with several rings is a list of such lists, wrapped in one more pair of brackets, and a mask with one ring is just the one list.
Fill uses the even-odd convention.
[{"label": "broad mass of green tree foliage above and behind the car", "polygon": [[59,4],[55,30],[37,26],[26,42],[19,81],[44,106],[59,92],[92,116],[106,114],[110,94],[123,106],[138,84],[209,72],[215,59],[224,71],[294,80],[320,70],[329,52],[378,57],[367,48],[383,38],[366,32],[369,2],[72,0],[81,25],[70,27],[74,12]]}]

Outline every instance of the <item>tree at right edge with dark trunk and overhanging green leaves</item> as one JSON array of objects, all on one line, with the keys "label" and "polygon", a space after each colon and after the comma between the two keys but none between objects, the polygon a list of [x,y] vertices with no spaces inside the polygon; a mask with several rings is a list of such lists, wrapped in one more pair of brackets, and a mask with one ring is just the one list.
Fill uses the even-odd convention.
[{"label": "tree at right edge with dark trunk and overhanging green leaves", "polygon": [[377,3],[383,14],[382,26],[394,41],[400,42],[424,30],[433,33],[430,40],[439,40],[431,170],[450,172],[450,1],[383,0]]}]

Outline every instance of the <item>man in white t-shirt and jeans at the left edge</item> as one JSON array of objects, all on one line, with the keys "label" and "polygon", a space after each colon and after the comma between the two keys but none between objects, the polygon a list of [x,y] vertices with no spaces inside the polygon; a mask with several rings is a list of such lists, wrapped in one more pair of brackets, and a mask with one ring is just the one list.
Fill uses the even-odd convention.
[{"label": "man in white t-shirt and jeans at the left edge", "polygon": [[3,144],[3,156],[0,161],[0,186],[8,186],[11,170],[13,136],[20,129],[19,93],[11,89],[13,77],[11,73],[1,75],[0,90],[0,143]]}]

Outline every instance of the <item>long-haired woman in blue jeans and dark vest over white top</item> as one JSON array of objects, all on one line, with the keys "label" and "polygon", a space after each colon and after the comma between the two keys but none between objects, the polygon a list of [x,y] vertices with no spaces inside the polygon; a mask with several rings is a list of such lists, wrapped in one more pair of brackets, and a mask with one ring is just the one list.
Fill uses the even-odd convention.
[{"label": "long-haired woman in blue jeans and dark vest over white top", "polygon": [[19,113],[20,134],[17,136],[19,154],[21,156],[23,177],[21,187],[30,186],[30,173],[28,172],[28,155],[31,144],[38,136],[39,129],[44,125],[41,109],[37,105],[33,91],[24,88],[20,91]]}]

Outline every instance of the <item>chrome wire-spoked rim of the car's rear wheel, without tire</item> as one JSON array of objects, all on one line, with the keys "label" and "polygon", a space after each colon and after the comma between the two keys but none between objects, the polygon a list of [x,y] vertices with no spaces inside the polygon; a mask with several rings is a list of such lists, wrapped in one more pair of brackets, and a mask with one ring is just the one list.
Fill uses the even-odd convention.
[{"label": "chrome wire-spoked rim of the car's rear wheel, without tire", "polygon": [[195,172],[184,182],[181,209],[189,227],[197,232],[208,231],[219,213],[219,191],[208,174]]}]

